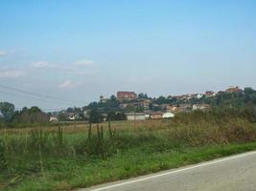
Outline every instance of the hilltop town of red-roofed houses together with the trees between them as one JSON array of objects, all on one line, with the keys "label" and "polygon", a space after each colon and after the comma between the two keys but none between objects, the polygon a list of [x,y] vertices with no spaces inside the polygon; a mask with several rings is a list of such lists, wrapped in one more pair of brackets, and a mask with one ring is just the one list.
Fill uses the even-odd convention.
[{"label": "hilltop town of red-roofed houses together with the trees between them", "polygon": [[[54,113],[50,120],[86,120],[91,110],[99,111],[104,119],[109,113],[112,113],[117,120],[169,118],[175,117],[176,113],[209,111],[212,107],[224,104],[228,107],[235,106],[238,100],[234,98],[243,96],[247,89],[250,88],[242,90],[235,86],[219,92],[206,91],[204,94],[159,97],[120,91],[116,96],[100,96],[99,101],[91,102],[82,108],[68,108],[65,111]],[[232,100],[235,104],[232,104]]]}]

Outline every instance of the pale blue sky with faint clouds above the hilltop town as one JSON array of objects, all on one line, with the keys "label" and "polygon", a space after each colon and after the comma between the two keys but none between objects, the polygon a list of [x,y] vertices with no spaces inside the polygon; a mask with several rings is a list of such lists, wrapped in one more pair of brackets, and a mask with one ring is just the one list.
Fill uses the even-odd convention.
[{"label": "pale blue sky with faint clouds above the hilltop town", "polygon": [[256,89],[255,10],[254,0],[1,0],[0,101],[52,110],[117,91]]}]

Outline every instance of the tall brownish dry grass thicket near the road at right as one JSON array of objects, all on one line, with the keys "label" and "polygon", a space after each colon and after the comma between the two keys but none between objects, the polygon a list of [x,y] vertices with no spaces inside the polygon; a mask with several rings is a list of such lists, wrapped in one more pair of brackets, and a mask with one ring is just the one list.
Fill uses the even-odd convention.
[{"label": "tall brownish dry grass thicket near the road at right", "polygon": [[180,114],[173,137],[190,146],[255,141],[256,125],[251,118],[239,110]]}]

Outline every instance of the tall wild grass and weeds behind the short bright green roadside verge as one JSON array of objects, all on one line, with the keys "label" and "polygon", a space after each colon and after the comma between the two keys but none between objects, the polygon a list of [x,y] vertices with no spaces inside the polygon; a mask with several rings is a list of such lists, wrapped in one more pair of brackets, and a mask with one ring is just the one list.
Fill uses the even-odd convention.
[{"label": "tall wild grass and weeds behind the short bright green roadside verge", "polygon": [[76,134],[61,126],[5,132],[0,135],[0,169],[6,169],[2,179],[19,183],[24,176],[47,177],[49,171],[59,170],[58,162],[67,162],[62,167],[71,170],[69,161],[77,159],[93,164],[132,153],[139,160],[141,154],[170,157],[186,148],[253,142],[253,118],[245,111],[214,110],[178,114],[171,120],[143,121],[136,128],[129,122],[109,121],[83,124],[77,127]]}]

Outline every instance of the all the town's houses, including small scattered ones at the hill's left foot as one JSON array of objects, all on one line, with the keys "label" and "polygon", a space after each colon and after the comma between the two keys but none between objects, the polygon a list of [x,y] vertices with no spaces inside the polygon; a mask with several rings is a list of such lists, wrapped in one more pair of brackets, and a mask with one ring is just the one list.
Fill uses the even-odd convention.
[{"label": "all the town's houses, including small scattered ones at the hill's left foot", "polygon": [[[159,119],[159,118],[172,118],[175,117],[176,113],[184,113],[191,111],[208,111],[211,106],[209,104],[201,103],[201,104],[191,104],[191,99],[200,99],[201,97],[213,97],[217,96],[221,93],[242,93],[239,87],[230,87],[225,91],[221,92],[213,92],[206,91],[204,94],[188,94],[181,96],[168,96],[169,99],[178,100],[179,104],[157,104],[155,103],[155,99],[148,97],[138,97],[134,92],[117,92],[116,98],[119,101],[119,108],[122,111],[126,111],[128,107],[132,108],[141,108],[143,109],[141,112],[127,112],[125,113],[128,120],[145,120],[145,119]],[[109,100],[109,98],[105,98],[104,96],[100,97],[100,102],[105,103]],[[158,108],[157,111],[152,110],[151,108]],[[65,112],[65,111],[62,111]],[[68,120],[77,120],[81,119],[81,115],[83,118],[88,117],[89,111],[82,111],[82,114],[74,114],[74,113],[66,113],[68,116]],[[103,114],[106,118],[106,114]],[[50,118],[51,121],[58,120],[57,116],[53,116]]]}]

